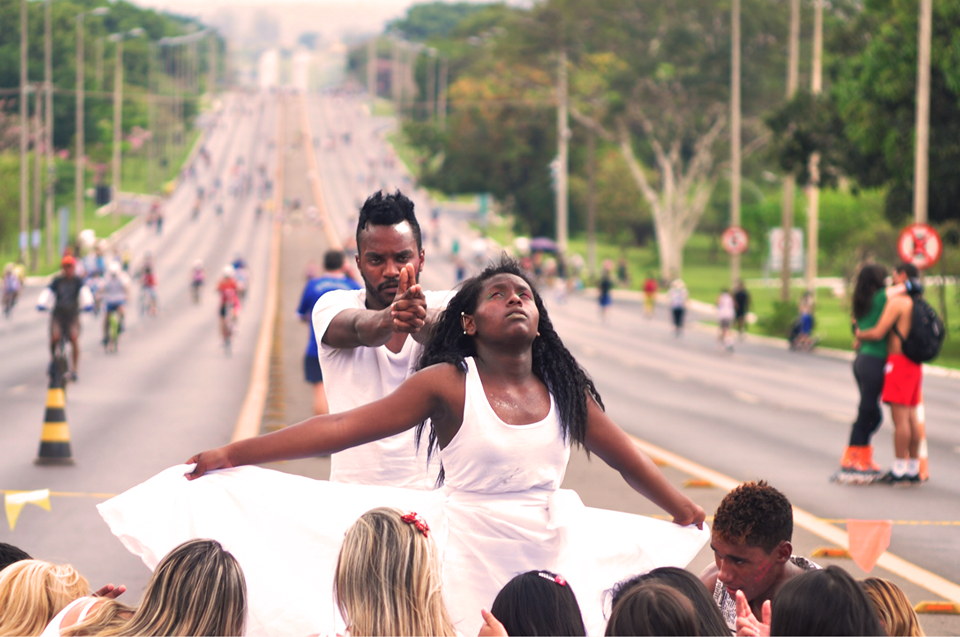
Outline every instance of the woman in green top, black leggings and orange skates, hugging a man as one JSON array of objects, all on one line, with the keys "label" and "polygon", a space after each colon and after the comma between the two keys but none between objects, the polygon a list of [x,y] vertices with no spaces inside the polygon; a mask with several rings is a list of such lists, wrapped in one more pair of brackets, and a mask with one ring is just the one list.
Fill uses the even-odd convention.
[{"label": "woman in green top, black leggings and orange skates, hugging a man", "polygon": [[[886,268],[877,264],[864,265],[857,275],[853,289],[853,322],[861,330],[873,327],[880,320],[887,303],[886,278]],[[860,390],[860,406],[850,432],[850,444],[843,453],[840,471],[834,474],[834,480],[862,484],[872,482],[880,475],[880,467],[873,463],[870,438],[883,420],[880,394],[887,362],[887,342],[855,342],[854,348],[857,356],[853,360],[853,377]]]}]

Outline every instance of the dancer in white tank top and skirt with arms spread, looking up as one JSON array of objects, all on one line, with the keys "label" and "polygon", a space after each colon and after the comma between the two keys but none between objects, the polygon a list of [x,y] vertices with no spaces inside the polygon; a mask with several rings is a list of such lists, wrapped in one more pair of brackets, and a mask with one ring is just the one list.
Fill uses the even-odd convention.
[{"label": "dancer in white tank top and skirt with arms spread, looking up", "polygon": [[[404,272],[401,289],[408,281],[412,277]],[[322,598],[330,595],[330,562],[346,528],[375,506],[415,510],[428,520],[443,563],[444,598],[463,634],[476,634],[481,608],[504,584],[535,569],[563,573],[578,591],[588,634],[602,631],[603,590],[657,566],[685,566],[705,543],[703,509],[607,417],[593,382],[563,346],[516,262],[504,259],[464,283],[436,323],[419,367],[374,403],[193,456],[193,489],[177,478],[182,468],[171,469],[104,503],[101,513],[148,565],[152,553],[177,539],[170,537],[171,528],[223,542],[247,574],[255,615],[248,629],[265,633],[284,630],[277,629],[280,616],[297,605],[289,591],[301,587],[285,586],[283,596],[271,592],[271,582],[258,590],[255,571],[275,568],[282,560],[277,545],[291,544],[299,547],[291,559],[309,570],[298,581],[319,582],[321,598],[307,610],[320,625],[293,622],[286,630],[334,630],[324,623],[332,596]],[[439,452],[444,482],[433,492],[333,484],[252,468],[210,473],[329,454],[415,426],[430,451]],[[560,490],[571,444],[618,470],[675,524],[589,509],[574,492]],[[158,526],[158,518],[166,523]],[[268,540],[274,554],[265,561],[255,553],[267,550]],[[274,598],[273,607],[258,614],[267,597]]]}]

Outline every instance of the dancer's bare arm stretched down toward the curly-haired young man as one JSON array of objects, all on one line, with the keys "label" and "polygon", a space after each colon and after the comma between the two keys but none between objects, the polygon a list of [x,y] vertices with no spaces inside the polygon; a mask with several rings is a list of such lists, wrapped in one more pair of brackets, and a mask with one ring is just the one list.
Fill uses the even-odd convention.
[{"label": "dancer's bare arm stretched down toward the curly-haired young man", "polygon": [[703,528],[706,514],[693,500],[680,493],[657,465],[617,426],[592,398],[587,399],[587,449],[620,472],[623,479],[645,498],[673,516],[682,526]]}]

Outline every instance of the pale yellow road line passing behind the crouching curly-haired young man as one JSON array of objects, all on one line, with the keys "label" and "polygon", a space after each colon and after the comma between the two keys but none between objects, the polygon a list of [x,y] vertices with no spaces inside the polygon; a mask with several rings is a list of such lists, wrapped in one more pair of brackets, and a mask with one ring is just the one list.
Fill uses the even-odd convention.
[{"label": "pale yellow road line passing behind the crouching curly-haired young man", "polygon": [[[643,450],[643,452],[648,456],[659,457],[675,469],[689,473],[690,475],[702,480],[709,480],[721,489],[731,491],[740,484],[739,481],[714,471],[713,469],[708,469],[702,465],[687,460],[686,458],[678,456],[675,453],[670,453],[665,449],[661,449],[656,445],[652,445],[648,442],[640,440],[635,436],[630,437],[633,439],[634,443],[636,443],[636,445],[640,447],[640,449]],[[846,522],[846,520],[844,520],[844,522]],[[810,531],[814,535],[822,537],[828,542],[836,544],[837,546],[841,546],[845,549],[850,548],[850,539],[847,536],[846,531],[838,529],[830,522],[807,513],[803,509],[793,507],[793,523],[796,526]],[[960,603],[960,586],[943,577],[940,577],[939,575],[931,573],[928,570],[922,569],[915,564],[911,564],[910,562],[899,558],[890,552],[886,552],[880,556],[880,559],[877,560],[877,566],[883,567],[891,573],[896,573],[900,577],[909,580],[918,586],[922,586],[928,591],[936,593],[945,599]]]}]

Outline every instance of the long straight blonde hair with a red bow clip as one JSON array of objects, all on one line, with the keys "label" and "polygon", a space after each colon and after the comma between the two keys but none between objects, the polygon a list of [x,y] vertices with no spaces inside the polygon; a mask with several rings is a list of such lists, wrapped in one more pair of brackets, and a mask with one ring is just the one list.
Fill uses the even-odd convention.
[{"label": "long straight blonde hair with a red bow clip", "polygon": [[347,531],[334,595],[351,635],[455,635],[436,547],[398,509],[367,511]]}]

